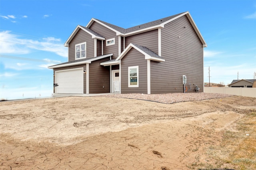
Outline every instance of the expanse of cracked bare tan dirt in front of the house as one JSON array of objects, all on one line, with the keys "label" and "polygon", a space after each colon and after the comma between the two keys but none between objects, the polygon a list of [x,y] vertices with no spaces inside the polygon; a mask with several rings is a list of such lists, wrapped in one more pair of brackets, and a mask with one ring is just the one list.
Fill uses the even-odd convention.
[{"label": "expanse of cracked bare tan dirt in front of the house", "polygon": [[186,170],[256,98],[162,104],[60,97],[0,103],[0,169]]}]

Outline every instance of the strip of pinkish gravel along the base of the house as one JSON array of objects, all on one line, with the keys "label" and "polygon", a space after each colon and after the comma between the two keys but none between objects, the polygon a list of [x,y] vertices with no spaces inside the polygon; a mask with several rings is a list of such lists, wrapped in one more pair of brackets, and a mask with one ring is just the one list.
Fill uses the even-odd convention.
[{"label": "strip of pinkish gravel along the base of the house", "polygon": [[[201,101],[206,99],[215,99],[222,97],[230,97],[232,95],[219,94],[219,93],[166,93],[166,94],[141,94],[141,93],[129,93],[129,94],[115,94],[104,95],[102,97],[114,97],[114,98],[127,98],[138,99],[146,101],[154,101],[159,103],[178,103],[184,101]],[[98,96],[99,97],[99,96]]]}]

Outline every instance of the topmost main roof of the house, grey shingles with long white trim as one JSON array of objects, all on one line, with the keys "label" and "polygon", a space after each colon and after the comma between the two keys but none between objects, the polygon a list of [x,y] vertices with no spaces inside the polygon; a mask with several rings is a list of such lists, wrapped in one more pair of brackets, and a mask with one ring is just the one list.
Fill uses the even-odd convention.
[{"label": "topmost main roof of the house, grey shingles with long white trim", "polygon": [[173,20],[176,20],[177,18],[180,18],[184,15],[186,15],[188,17],[188,20],[190,21],[190,23],[193,26],[196,34],[198,35],[200,41],[202,42],[203,47],[207,47],[207,44],[204,41],[204,38],[202,37],[200,31],[198,30],[194,20],[192,19],[191,15],[188,11],[187,12],[182,12],[180,14],[176,14],[176,15],[173,15],[173,16],[169,16],[169,17],[166,17],[166,18],[162,18],[162,19],[159,19],[159,20],[155,20],[155,21],[152,21],[152,22],[148,22],[146,24],[141,24],[139,26],[134,26],[134,27],[131,27],[131,28],[127,28],[127,29],[124,29],[124,28],[115,26],[113,24],[109,24],[107,22],[92,18],[90,20],[90,22],[87,24],[86,28],[90,28],[90,26],[92,25],[93,22],[98,22],[99,24],[105,26],[106,28],[116,32],[117,36],[121,35],[121,36],[125,37],[125,36],[131,36],[131,35],[142,33],[142,32],[147,32],[147,31],[150,31],[150,30],[155,30],[157,28],[164,28],[165,24],[167,24],[169,22],[172,22]]}]

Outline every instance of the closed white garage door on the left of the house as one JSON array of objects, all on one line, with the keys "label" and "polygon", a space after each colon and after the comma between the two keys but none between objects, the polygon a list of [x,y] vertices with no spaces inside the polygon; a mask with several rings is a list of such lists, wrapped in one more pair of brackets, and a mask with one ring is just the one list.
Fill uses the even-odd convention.
[{"label": "closed white garage door on the left of the house", "polygon": [[55,93],[84,93],[84,74],[83,68],[69,69],[55,72]]}]

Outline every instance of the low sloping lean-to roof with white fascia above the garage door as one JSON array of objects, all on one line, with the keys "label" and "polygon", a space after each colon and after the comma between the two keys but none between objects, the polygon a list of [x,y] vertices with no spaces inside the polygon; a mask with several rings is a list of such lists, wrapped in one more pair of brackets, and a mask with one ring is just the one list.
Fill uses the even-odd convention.
[{"label": "low sloping lean-to roof with white fascia above the garage door", "polygon": [[56,69],[56,68],[68,67],[68,66],[72,66],[72,65],[92,63],[92,61],[96,61],[98,59],[103,59],[103,58],[106,58],[106,57],[110,57],[112,55],[113,55],[113,53],[106,54],[106,55],[100,55],[98,57],[91,57],[91,58],[85,58],[85,59],[78,59],[78,60],[74,60],[74,61],[68,61],[66,63],[60,63],[60,64],[49,66],[48,69]]}]

